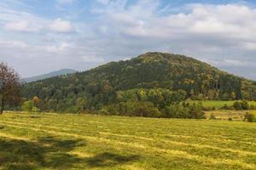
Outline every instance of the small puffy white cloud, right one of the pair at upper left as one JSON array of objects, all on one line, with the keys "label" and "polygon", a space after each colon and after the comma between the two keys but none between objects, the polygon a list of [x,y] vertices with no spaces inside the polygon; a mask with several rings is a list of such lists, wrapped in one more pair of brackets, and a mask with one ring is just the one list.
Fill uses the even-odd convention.
[{"label": "small puffy white cloud, right one of the pair at upper left", "polygon": [[56,32],[71,32],[73,31],[73,26],[68,20],[61,20],[60,18],[54,20],[54,22],[49,26],[49,29]]}]

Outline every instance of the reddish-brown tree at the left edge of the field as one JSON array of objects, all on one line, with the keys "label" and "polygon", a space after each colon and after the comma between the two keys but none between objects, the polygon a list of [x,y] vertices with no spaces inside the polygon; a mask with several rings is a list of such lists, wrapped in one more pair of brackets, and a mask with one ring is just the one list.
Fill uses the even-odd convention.
[{"label": "reddish-brown tree at the left edge of the field", "polygon": [[20,82],[15,70],[0,63],[0,114],[6,105],[16,105],[20,102]]}]

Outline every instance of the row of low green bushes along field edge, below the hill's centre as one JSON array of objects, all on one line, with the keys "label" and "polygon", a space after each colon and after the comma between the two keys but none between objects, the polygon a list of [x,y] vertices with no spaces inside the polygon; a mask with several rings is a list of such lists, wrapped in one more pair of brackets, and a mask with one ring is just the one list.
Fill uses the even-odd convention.
[{"label": "row of low green bushes along field edge, below the hill's centre", "polygon": [[117,115],[117,116],[145,116],[145,117],[166,117],[166,118],[190,118],[201,119],[205,118],[202,111],[201,103],[183,102],[183,104],[172,104],[166,106],[161,111],[151,102],[119,102],[118,104],[102,106],[97,111],[102,115]]}]

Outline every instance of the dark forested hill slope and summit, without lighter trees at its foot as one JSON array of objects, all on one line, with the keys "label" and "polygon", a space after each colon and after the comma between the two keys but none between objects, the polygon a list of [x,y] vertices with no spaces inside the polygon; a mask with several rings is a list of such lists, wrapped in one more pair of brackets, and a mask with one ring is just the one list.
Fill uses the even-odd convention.
[{"label": "dark forested hill slope and summit, without lighter trees at its foot", "polygon": [[197,59],[156,52],[26,83],[22,93],[26,99],[38,96],[48,110],[65,111],[74,105],[100,108],[118,102],[120,92],[131,89],[181,89],[190,99],[256,99],[256,82],[219,71]]}]

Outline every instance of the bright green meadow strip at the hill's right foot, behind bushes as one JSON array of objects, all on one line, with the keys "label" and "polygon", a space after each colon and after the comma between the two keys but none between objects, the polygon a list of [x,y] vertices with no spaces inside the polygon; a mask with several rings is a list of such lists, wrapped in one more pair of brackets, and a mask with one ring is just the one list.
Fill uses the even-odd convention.
[{"label": "bright green meadow strip at the hill's right foot, behind bushes", "polygon": [[[189,100],[189,103],[193,102],[201,102],[204,107],[215,107],[216,109],[220,109],[224,105],[231,106],[234,104],[234,100]],[[249,105],[256,105],[255,101],[249,101]]]}]

